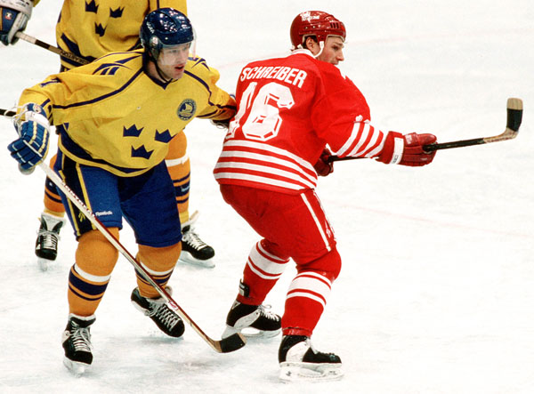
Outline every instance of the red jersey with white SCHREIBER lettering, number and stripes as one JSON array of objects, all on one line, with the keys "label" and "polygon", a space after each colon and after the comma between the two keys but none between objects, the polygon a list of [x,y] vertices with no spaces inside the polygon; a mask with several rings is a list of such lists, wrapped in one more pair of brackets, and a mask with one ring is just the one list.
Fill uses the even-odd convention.
[{"label": "red jersey with white SCHREIBER lettering, number and stripes", "polygon": [[219,183],[296,194],[316,187],[313,165],[327,144],[339,157],[377,157],[384,147],[360,90],[307,50],[247,64],[236,96]]}]

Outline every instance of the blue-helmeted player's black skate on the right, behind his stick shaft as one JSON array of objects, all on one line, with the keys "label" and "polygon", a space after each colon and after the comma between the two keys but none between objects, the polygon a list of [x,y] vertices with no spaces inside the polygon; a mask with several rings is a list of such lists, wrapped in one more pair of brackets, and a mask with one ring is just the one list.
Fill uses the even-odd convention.
[{"label": "blue-helmeted player's black skate on the right, behind his stick shaft", "polygon": [[[170,286],[166,287],[168,293],[173,293]],[[130,297],[134,307],[141,310],[146,316],[152,319],[156,326],[169,336],[178,338],[182,336],[185,327],[182,319],[166,306],[163,298],[150,299],[142,297],[139,288],[135,287]]]}]

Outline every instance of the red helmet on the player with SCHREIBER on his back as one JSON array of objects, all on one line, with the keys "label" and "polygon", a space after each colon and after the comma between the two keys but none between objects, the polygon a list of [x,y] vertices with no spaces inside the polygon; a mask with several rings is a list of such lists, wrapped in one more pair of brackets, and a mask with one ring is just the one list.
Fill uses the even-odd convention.
[{"label": "red helmet on the player with SCHREIBER on his back", "polygon": [[328,36],[340,36],[345,39],[347,32],[341,20],[334,15],[322,11],[306,11],[299,13],[289,30],[293,49],[302,48],[307,36],[317,37],[317,41],[325,41]]}]

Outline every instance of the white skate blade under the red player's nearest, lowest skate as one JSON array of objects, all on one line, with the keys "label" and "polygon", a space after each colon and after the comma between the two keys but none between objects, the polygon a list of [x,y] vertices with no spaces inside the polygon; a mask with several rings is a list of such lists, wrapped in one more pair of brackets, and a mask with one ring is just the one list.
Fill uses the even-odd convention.
[{"label": "white skate blade under the red player's nearest, lowest skate", "polygon": [[343,375],[341,364],[280,363],[279,379],[283,382],[336,381]]}]

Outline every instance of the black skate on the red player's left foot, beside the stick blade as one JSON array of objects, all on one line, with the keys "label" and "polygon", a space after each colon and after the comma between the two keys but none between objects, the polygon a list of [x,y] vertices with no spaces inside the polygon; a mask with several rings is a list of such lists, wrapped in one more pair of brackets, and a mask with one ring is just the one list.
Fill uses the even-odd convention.
[{"label": "black skate on the red player's left foot, beside the stick blade", "polygon": [[235,301],[226,317],[223,338],[241,333],[248,338],[271,338],[280,332],[281,318],[272,313],[270,306],[247,305]]}]

